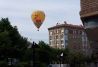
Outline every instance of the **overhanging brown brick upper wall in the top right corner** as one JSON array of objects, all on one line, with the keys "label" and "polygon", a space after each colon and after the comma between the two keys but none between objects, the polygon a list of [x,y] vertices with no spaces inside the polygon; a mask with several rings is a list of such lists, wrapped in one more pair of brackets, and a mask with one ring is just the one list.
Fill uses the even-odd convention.
[{"label": "overhanging brown brick upper wall in the top right corner", "polygon": [[81,17],[98,14],[98,0],[81,0]]}]

